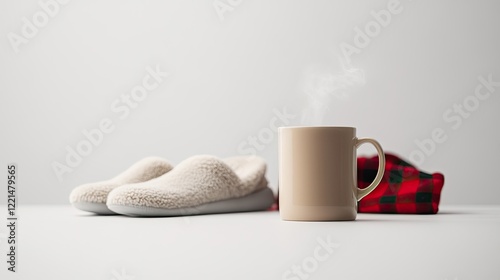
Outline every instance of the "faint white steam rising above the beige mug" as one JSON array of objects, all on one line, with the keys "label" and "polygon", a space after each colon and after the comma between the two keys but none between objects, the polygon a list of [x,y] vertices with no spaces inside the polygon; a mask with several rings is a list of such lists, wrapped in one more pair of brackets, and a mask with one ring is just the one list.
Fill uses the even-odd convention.
[{"label": "faint white steam rising above the beige mug", "polygon": [[352,87],[366,83],[362,69],[352,67],[346,59],[339,57],[339,61],[342,68],[340,73],[322,71],[319,67],[306,71],[302,84],[302,91],[307,99],[302,112],[303,125],[323,124],[332,97],[347,99]]}]

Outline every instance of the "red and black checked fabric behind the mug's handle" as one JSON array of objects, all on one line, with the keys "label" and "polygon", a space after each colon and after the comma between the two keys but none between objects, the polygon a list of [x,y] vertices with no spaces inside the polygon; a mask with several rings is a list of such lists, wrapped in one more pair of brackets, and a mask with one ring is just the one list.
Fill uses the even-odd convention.
[{"label": "red and black checked fabric behind the mug's handle", "polygon": [[[393,154],[385,154],[385,172],[380,184],[358,204],[360,213],[436,214],[444,176],[428,174]],[[358,186],[367,187],[375,178],[378,157],[358,158]]]}]

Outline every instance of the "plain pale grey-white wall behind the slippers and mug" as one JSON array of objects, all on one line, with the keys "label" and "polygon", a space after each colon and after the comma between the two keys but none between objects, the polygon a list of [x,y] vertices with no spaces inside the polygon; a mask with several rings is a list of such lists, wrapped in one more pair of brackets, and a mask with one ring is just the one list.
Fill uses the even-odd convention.
[{"label": "plain pale grey-white wall behind the slippers and mug", "polygon": [[[443,114],[473,96],[479,76],[500,81],[500,2],[402,0],[346,63],[341,44],[356,46],[355,28],[387,3],[234,1],[219,16],[212,1],[71,1],[16,53],[9,34],[43,10],[1,1],[0,167],[18,164],[21,203],[68,203],[72,188],[145,156],[241,154],[286,107],[289,125],[355,126],[406,159],[441,128],[446,140],[418,166],[445,175],[442,203],[498,204],[500,87],[456,129]],[[111,104],[156,65],[171,76],[120,119]],[[318,81],[311,111],[307,85]],[[114,131],[58,180],[52,164],[104,118]],[[257,154],[276,189],[277,134],[266,135]]]}]

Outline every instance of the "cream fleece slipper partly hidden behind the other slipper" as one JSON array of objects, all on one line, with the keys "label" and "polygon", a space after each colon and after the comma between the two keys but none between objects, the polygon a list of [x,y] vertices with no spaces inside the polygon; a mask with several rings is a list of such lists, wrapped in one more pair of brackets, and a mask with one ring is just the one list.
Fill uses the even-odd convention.
[{"label": "cream fleece slipper partly hidden behind the other slipper", "polygon": [[106,206],[109,192],[125,185],[145,182],[157,178],[170,170],[173,166],[159,157],[147,157],[113,179],[84,184],[76,187],[69,196],[71,204],[83,211],[93,212],[101,215],[116,214]]}]

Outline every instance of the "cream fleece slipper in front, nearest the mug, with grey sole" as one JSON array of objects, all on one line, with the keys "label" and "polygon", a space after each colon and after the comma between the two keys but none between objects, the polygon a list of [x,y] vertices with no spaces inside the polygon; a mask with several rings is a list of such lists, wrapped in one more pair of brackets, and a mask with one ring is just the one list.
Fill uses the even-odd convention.
[{"label": "cream fleece slipper in front, nearest the mug, with grey sole", "polygon": [[256,156],[194,156],[156,179],[111,191],[107,206],[129,216],[260,211],[274,202],[266,163]]}]

